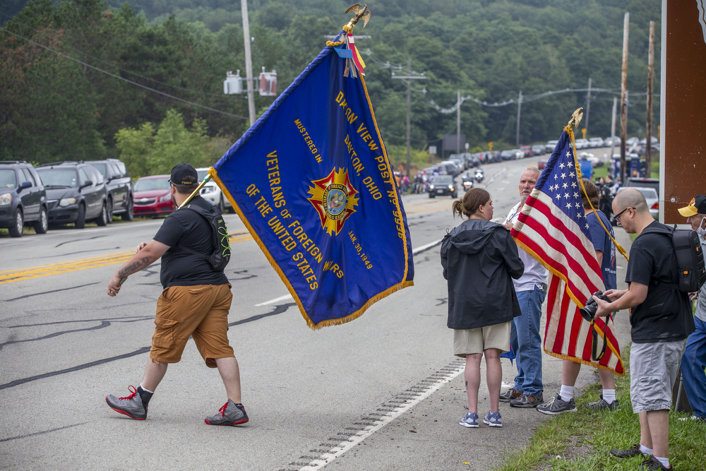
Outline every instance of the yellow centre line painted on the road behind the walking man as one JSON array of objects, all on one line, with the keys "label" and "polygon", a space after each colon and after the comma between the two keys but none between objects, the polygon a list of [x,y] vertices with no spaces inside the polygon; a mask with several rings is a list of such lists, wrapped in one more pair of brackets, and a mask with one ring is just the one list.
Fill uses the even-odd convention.
[{"label": "yellow centre line painted on the road behind the walking man", "polygon": [[[232,232],[231,234],[233,234],[233,236],[228,238],[231,243],[253,240],[247,231],[237,231]],[[128,250],[103,256],[80,258],[78,260],[51,263],[49,265],[41,265],[32,268],[23,268],[21,270],[0,271],[0,285],[16,281],[32,280],[33,278],[42,278],[44,276],[59,275],[61,273],[71,273],[73,271],[86,270],[88,268],[117,265],[130,260],[133,255],[135,255],[135,251]]]}]

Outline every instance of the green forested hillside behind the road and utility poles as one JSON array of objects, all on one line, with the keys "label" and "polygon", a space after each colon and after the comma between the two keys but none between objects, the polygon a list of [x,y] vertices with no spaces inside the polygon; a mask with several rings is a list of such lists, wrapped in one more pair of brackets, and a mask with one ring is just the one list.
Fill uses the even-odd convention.
[{"label": "green forested hillside behind the road and utility poles", "polygon": [[[334,35],[347,22],[347,6],[349,0],[249,2],[254,72],[275,68],[277,90],[284,90],[324,47],[324,35]],[[395,145],[404,143],[406,84],[391,74],[402,73],[395,67],[406,68],[409,57],[412,71],[426,76],[412,85],[418,151],[455,133],[455,112],[439,112],[431,100],[453,107],[460,90],[489,104],[516,101],[520,90],[527,96],[587,88],[589,78],[593,88],[614,90],[594,92],[591,100],[588,134],[608,136],[620,88],[626,11],[630,135],[645,128],[650,20],[657,23],[654,90],[659,90],[659,0],[380,0],[369,8],[369,24],[355,32],[371,36],[358,44],[361,51],[369,49],[366,83],[393,154]],[[116,136],[125,138],[145,125],[158,133],[174,109],[178,114],[169,122],[181,114],[182,127],[210,137],[203,159],[215,162],[249,126],[245,95],[222,93],[226,71],[240,69],[244,76],[239,3],[13,0],[0,8],[0,17],[3,28],[16,33],[0,31],[0,158],[119,156]],[[559,93],[523,102],[520,141],[557,138],[573,109],[586,105],[586,95]],[[256,109],[262,112],[272,101],[256,94]],[[655,102],[653,133],[659,122],[659,99]],[[461,132],[472,146],[514,145],[516,117],[516,102],[496,107],[468,100],[461,107]],[[156,134],[143,134],[152,145]]]}]

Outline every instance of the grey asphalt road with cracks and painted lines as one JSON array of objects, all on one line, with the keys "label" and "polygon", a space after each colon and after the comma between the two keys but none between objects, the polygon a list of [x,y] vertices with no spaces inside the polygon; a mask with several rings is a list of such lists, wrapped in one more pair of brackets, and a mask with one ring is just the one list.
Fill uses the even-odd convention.
[{"label": "grey asphalt road with cracks and painted lines", "polygon": [[[536,162],[484,166],[480,186],[491,192],[496,217],[519,201],[520,174]],[[451,215],[452,201],[403,198],[415,249],[460,223]],[[465,413],[462,362],[451,353],[438,244],[415,254],[414,287],[351,323],[312,331],[237,215],[226,220],[233,234],[226,269],[234,293],[229,338],[250,422],[203,423],[225,403],[225,390],[191,342],[181,362],[169,366],[146,421],[104,403],[105,395],[128,395],[127,387],[141,381],[162,290],[160,264],[128,278],[118,297],[107,296],[107,282],[162,220],[5,237],[0,467],[484,470],[498,463],[503,449],[524,445],[545,419],[503,404],[502,429],[458,425]],[[627,239],[627,248],[622,229],[616,235]],[[628,331],[618,316],[621,345]],[[561,384],[561,361],[545,355],[543,362],[549,398]],[[584,370],[578,386],[597,380]],[[514,376],[515,366],[503,360],[503,380]],[[479,408],[488,406],[481,383]]]}]

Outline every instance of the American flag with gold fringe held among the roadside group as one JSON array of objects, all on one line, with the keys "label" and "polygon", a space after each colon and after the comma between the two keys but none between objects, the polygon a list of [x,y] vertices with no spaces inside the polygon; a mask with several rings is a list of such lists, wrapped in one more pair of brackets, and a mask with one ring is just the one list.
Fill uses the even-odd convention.
[{"label": "American flag with gold fringe held among the roadside group", "polygon": [[625,371],[612,319],[607,318],[607,324],[604,318],[594,323],[601,337],[599,347],[606,328],[608,343],[603,358],[594,362],[591,323],[578,311],[604,285],[581,202],[573,131],[568,129],[561,134],[511,232],[517,245],[549,270],[544,352],[622,376]]}]

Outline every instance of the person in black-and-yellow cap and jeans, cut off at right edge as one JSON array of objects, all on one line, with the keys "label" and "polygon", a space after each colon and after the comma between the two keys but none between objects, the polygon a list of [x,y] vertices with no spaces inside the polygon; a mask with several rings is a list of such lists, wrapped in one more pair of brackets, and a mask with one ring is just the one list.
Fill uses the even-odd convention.
[{"label": "person in black-and-yellow cap and jeans, cut off at right edge", "polygon": [[[695,196],[686,208],[679,209],[679,213],[687,218],[686,223],[699,235],[702,249],[706,250],[706,195]],[[686,342],[681,358],[681,376],[694,412],[691,419],[706,422],[706,283],[691,299],[698,299],[694,317],[696,330]]]}]

